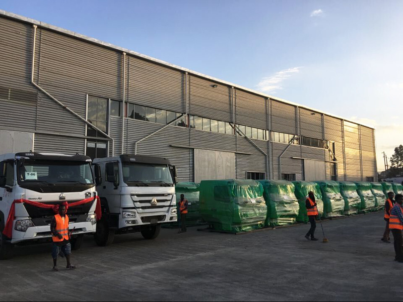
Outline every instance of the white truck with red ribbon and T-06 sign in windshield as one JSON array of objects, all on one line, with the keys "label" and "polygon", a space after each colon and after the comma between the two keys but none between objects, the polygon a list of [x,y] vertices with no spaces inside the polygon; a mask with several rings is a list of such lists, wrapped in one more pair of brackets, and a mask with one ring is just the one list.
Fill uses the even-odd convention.
[{"label": "white truck with red ribbon and T-06 sign in windshield", "polygon": [[12,257],[15,244],[51,241],[52,206],[62,202],[85,202],[68,210],[73,249],[80,247],[84,234],[95,233],[97,200],[91,161],[83,155],[0,155],[0,259]]}]

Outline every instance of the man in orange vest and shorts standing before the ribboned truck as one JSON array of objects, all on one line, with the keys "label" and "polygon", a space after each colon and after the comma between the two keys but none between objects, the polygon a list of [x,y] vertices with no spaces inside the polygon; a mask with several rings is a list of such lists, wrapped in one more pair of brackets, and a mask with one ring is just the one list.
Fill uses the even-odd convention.
[{"label": "man in orange vest and shorts standing before the ribboned truck", "polygon": [[[53,270],[57,269],[57,256],[61,252],[67,260],[67,269],[75,269],[70,262],[70,255],[72,252],[72,246],[70,244],[69,238],[69,216],[67,213],[67,203],[63,203],[58,207],[58,214],[53,216],[52,222],[50,223],[50,232],[52,233],[53,248],[52,248],[52,258],[53,258]],[[57,207],[56,207],[57,209]]]}]

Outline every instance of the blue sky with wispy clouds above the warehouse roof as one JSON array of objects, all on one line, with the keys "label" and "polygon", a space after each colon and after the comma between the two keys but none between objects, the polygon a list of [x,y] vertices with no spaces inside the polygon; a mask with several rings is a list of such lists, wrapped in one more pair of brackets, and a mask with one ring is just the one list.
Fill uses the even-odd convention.
[{"label": "blue sky with wispy clouds above the warehouse roof", "polygon": [[376,128],[403,144],[403,1],[16,1],[0,9]]}]

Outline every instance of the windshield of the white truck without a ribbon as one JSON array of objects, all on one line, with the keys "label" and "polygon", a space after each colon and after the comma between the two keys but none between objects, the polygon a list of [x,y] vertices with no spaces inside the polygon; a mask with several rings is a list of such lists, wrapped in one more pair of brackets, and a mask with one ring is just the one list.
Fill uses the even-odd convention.
[{"label": "windshield of the white truck without a ribbon", "polygon": [[171,172],[167,165],[123,163],[123,181],[129,186],[171,186]]}]

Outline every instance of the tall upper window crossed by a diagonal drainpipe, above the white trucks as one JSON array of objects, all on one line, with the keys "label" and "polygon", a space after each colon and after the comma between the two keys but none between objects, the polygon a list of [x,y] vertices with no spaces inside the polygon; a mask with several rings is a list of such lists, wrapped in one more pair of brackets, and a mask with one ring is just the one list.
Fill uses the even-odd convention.
[{"label": "tall upper window crossed by a diagonal drainpipe, above the white trucks", "polygon": [[[88,96],[87,119],[95,127],[106,133],[107,129],[108,99],[102,97]],[[87,128],[88,136],[98,136],[97,131],[92,127]]]}]

